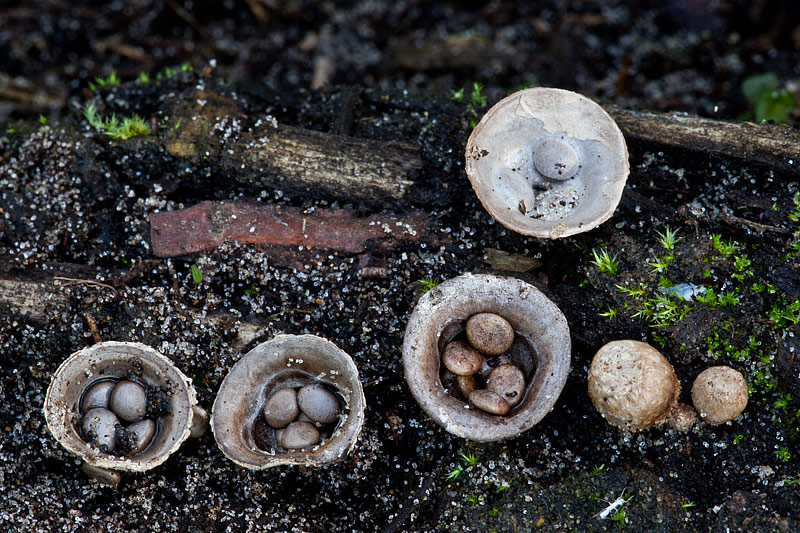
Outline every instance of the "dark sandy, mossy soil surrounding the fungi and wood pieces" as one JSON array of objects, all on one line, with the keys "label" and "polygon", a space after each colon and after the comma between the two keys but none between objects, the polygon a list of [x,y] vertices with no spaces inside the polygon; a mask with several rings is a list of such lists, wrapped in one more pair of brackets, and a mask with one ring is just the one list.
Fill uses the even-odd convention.
[{"label": "dark sandy, mossy soil surrounding the fungi and wood pieces", "polygon": [[[741,91],[748,76],[773,72],[797,93],[798,60],[800,10],[788,0],[0,7],[0,277],[61,275],[115,287],[71,284],[68,298],[43,302],[38,317],[0,305],[0,524],[19,531],[797,530],[796,175],[632,144],[631,176],[608,222],[555,242],[525,238],[495,223],[466,186],[461,154],[471,114],[450,91],[466,87],[468,95],[482,83],[488,102],[478,116],[520,86],[541,85],[600,103],[730,120],[749,110]],[[112,71],[122,85],[89,89]],[[137,82],[141,72],[152,81]],[[108,113],[158,119],[201,83],[236,95],[251,117],[330,132],[350,114],[353,137],[417,147],[431,193],[411,207],[431,215],[431,234],[443,244],[359,256],[292,250],[291,266],[286,250],[232,243],[155,259],[148,214],[202,200],[380,211],[254,190],[227,176],[204,180],[203,165],[93,132],[80,112],[93,100]],[[795,110],[792,127],[797,118]],[[666,227],[681,240],[669,268],[656,272],[648,261],[665,254],[656,231]],[[736,251],[715,250],[712,234]],[[498,271],[483,260],[488,248],[542,266]],[[618,258],[617,275],[591,263],[600,249]],[[192,265],[202,282],[192,279]],[[365,265],[386,267],[389,276],[364,279]],[[564,311],[572,333],[572,370],[554,411],[503,443],[449,435],[403,379],[402,334],[419,280],[469,271],[535,284]],[[687,302],[684,317],[654,326],[633,315],[658,294],[662,277],[731,292],[738,302]],[[639,284],[641,297],[617,287]],[[609,309],[618,316],[600,316]],[[365,384],[359,443],[331,466],[250,472],[224,458],[209,433],[116,489],[100,486],[52,438],[41,412],[52,372],[93,343],[87,315],[104,340],[144,342],[173,359],[209,409],[255,343],[279,333],[328,338],[353,356]],[[243,325],[253,326],[251,336]],[[620,338],[662,349],[682,401],[703,369],[734,366],[752,386],[747,410],[731,424],[688,433],[620,434],[585,392],[591,357]],[[478,464],[466,467],[459,453]],[[449,479],[459,464],[463,473]],[[624,521],[597,516],[622,494],[630,498]]]}]

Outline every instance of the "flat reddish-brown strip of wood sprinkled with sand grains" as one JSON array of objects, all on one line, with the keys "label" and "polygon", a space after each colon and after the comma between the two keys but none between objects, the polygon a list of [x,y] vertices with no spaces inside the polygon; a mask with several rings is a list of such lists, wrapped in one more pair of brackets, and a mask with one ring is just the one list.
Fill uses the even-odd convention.
[{"label": "flat reddish-brown strip of wood sprinkled with sand grains", "polygon": [[347,209],[304,211],[251,202],[202,202],[150,215],[150,239],[158,257],[200,252],[226,241],[358,253],[370,242],[430,242],[427,229],[428,217],[420,211],[359,218]]}]

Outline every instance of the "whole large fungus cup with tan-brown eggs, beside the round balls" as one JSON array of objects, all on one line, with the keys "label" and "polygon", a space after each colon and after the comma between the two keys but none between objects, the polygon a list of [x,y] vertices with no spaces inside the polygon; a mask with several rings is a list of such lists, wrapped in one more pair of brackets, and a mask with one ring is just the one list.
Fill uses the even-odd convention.
[{"label": "whole large fungus cup with tan-brown eggs, beside the round balls", "polygon": [[[504,338],[504,329],[512,332],[497,349],[470,331],[470,319],[487,317],[486,331]],[[479,363],[472,364],[475,357]],[[406,327],[403,366],[414,398],[444,429],[479,442],[511,438],[539,422],[561,394],[569,327],[535,287],[464,274],[419,299]]]}]

